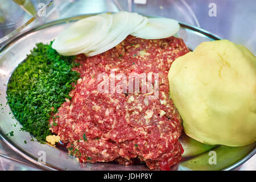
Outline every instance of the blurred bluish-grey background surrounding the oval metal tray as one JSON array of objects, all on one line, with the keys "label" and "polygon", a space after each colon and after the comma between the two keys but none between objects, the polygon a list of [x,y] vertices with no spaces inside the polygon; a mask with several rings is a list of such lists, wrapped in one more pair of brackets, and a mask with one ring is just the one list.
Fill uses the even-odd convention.
[{"label": "blurred bluish-grey background surrounding the oval metal tray", "polygon": [[[0,0],[0,39],[26,23],[50,0]],[[55,0],[22,32],[71,16],[133,11],[164,16],[203,28],[222,39],[242,44],[256,54],[256,0]],[[4,43],[0,44],[0,47]],[[236,170],[255,169],[256,156]],[[0,170],[40,168],[15,154],[0,140]]]}]

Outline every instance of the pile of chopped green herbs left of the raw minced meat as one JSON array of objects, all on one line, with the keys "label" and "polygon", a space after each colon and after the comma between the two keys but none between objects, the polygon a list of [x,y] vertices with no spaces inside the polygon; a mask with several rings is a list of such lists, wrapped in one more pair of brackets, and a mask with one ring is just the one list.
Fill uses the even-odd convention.
[{"label": "pile of chopped green herbs left of the raw minced meat", "polygon": [[7,85],[7,100],[16,119],[39,142],[50,135],[49,119],[69,98],[72,82],[79,73],[72,71],[75,56],[61,56],[51,44],[36,44],[27,59],[18,65]]}]

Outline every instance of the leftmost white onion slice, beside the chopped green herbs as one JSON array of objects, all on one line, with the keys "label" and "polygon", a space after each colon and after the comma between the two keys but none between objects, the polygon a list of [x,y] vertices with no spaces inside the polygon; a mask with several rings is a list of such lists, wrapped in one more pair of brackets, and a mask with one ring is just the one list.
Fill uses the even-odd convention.
[{"label": "leftmost white onion slice, beside the chopped green herbs", "polygon": [[110,28],[111,24],[102,16],[97,15],[81,19],[61,32],[52,43],[52,48],[61,55],[77,55],[79,51],[90,46],[94,40],[100,42],[104,37],[98,36],[106,34],[108,26]]}]

